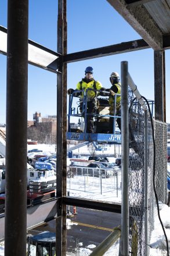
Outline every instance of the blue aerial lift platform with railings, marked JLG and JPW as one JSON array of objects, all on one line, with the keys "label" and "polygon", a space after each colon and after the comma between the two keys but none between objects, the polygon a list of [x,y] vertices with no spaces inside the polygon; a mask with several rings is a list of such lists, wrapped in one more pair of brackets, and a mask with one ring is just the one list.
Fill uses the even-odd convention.
[{"label": "blue aerial lift platform with railings, marked JLG and JPW", "polygon": [[[88,89],[92,90],[92,89]],[[116,119],[121,118],[121,116],[109,115],[109,104],[108,96],[110,93],[107,91],[96,91],[96,111],[95,113],[87,113],[87,97],[84,93],[83,98],[83,108],[82,112],[79,111],[79,96],[81,91],[74,91],[73,94],[69,96],[69,105],[68,105],[68,131],[67,131],[67,140],[77,140],[77,141],[96,141],[100,144],[121,144],[121,131],[116,127]],[[103,96],[104,95],[104,96]],[[116,97],[120,94],[115,94]],[[77,109],[75,105],[77,104]],[[116,108],[115,108],[116,109]],[[93,116],[94,120],[94,130],[93,133],[87,133],[87,117],[88,115]],[[109,119],[113,118],[113,133],[109,133]],[[72,123],[72,120],[78,120],[78,124]]]}]

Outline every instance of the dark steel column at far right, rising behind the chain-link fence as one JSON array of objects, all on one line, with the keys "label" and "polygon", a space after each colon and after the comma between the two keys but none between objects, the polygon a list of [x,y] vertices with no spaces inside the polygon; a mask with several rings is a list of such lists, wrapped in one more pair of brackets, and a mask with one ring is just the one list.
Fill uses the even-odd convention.
[{"label": "dark steel column at far right, rising behind the chain-link fence", "polygon": [[165,122],[165,53],[154,51],[155,119]]}]

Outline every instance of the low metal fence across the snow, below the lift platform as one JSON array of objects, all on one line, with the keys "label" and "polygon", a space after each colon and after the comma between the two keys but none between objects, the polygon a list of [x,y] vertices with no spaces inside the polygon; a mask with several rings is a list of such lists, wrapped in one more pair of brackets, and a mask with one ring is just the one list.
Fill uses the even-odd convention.
[{"label": "low metal fence across the snow, below the lift platform", "polygon": [[103,194],[113,191],[113,197],[121,193],[121,169],[109,172],[97,168],[67,166],[67,190]]}]

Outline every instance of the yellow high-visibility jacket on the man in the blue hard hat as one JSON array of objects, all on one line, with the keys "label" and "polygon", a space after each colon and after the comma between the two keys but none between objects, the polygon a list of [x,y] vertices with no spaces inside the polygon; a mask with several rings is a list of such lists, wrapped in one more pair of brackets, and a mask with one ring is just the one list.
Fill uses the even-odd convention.
[{"label": "yellow high-visibility jacket on the man in the blue hard hat", "polygon": [[[93,90],[100,90],[102,88],[102,84],[99,81],[95,81],[95,80],[92,80],[92,81],[89,81],[89,83],[86,83],[86,81],[82,79],[82,81],[79,81],[76,86],[76,90],[79,90],[79,91],[80,90],[86,91],[88,88],[91,88]],[[89,90],[87,93],[87,96],[88,96],[88,100],[90,101],[93,98],[95,98],[96,92]],[[81,98],[84,97],[84,92],[82,92],[80,97]]]}]

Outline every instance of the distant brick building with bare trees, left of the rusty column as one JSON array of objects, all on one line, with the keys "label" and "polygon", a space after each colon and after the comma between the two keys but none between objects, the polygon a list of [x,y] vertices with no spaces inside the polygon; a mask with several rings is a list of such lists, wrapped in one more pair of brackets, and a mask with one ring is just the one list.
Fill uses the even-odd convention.
[{"label": "distant brick building with bare trees, left of the rusty column", "polygon": [[38,143],[55,144],[56,122],[56,116],[49,115],[42,118],[41,113],[35,112],[33,121],[28,121],[28,139],[38,141]]}]

